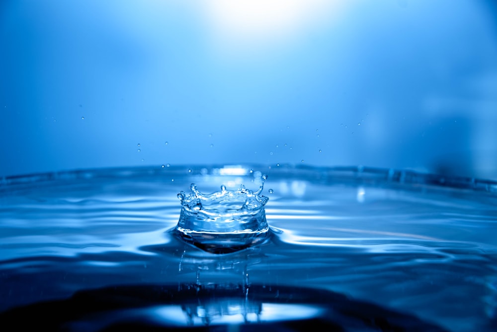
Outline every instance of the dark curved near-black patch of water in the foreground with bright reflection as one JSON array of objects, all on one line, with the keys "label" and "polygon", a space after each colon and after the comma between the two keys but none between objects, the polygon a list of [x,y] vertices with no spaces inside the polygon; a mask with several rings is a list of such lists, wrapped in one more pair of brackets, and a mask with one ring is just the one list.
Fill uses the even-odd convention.
[{"label": "dark curved near-black patch of water in the foreground with bright reflection", "polygon": [[7,310],[0,322],[2,331],[444,331],[328,290],[236,283],[82,290]]}]

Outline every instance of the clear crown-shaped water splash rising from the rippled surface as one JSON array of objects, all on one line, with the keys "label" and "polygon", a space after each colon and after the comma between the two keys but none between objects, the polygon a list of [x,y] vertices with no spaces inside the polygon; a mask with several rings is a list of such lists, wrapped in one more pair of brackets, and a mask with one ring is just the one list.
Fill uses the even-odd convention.
[{"label": "clear crown-shaped water splash rising from the rippled surface", "polygon": [[256,192],[241,185],[238,190],[201,193],[191,184],[190,194],[180,192],[181,214],[177,232],[187,242],[213,253],[227,253],[260,243],[268,234],[264,205],[269,198],[260,195],[266,175]]}]

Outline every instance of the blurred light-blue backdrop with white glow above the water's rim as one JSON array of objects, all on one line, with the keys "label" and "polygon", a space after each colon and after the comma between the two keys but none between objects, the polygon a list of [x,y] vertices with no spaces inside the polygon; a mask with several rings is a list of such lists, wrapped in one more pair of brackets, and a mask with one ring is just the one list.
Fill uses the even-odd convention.
[{"label": "blurred light-blue backdrop with white glow above the water's rim", "polygon": [[0,176],[364,165],[497,179],[497,5],[2,0]]}]

